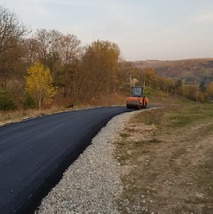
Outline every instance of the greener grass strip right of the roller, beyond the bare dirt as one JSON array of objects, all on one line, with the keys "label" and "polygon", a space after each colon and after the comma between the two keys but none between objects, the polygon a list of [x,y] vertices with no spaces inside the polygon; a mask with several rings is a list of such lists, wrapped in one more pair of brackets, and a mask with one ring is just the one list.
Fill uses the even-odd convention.
[{"label": "greener grass strip right of the roller, beyond the bare dirt", "polygon": [[197,104],[195,102],[175,103],[174,106],[144,111],[137,114],[131,122],[155,124],[159,128],[181,128],[193,125],[198,121],[213,119],[213,104]]}]

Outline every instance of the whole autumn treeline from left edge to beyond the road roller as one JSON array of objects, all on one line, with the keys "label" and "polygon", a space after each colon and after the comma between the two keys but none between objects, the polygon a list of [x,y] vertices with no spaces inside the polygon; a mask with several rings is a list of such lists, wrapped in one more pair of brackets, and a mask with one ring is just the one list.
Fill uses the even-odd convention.
[{"label": "whole autumn treeline from left edge to beyond the road roller", "polygon": [[[153,69],[133,68],[113,42],[82,46],[77,36],[57,30],[32,34],[16,14],[0,6],[0,110],[41,108],[52,102],[73,106],[112,93],[127,94],[134,84],[188,93]],[[208,94],[211,86],[202,90]]]}]

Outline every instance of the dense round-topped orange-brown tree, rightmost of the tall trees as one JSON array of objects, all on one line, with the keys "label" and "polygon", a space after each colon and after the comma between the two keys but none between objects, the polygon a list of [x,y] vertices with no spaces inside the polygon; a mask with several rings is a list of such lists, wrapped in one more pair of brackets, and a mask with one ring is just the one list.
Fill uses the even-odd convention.
[{"label": "dense round-topped orange-brown tree, rightmost of the tall trees", "polygon": [[115,77],[120,59],[117,44],[97,40],[86,47],[79,77],[82,95],[95,97],[115,89]]}]

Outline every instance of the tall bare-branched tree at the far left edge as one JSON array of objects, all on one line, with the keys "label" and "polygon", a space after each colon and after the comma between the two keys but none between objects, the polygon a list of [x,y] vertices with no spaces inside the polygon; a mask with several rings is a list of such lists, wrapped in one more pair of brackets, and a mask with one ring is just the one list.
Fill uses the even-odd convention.
[{"label": "tall bare-branched tree at the far left edge", "polygon": [[9,80],[21,71],[24,55],[22,37],[27,33],[16,15],[0,6],[0,85],[4,89]]}]

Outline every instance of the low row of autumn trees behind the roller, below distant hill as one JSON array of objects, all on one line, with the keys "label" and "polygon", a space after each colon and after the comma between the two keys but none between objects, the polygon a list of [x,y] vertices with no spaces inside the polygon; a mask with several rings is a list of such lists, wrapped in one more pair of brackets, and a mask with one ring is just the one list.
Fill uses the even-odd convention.
[{"label": "low row of autumn trees behind the roller, below distant hill", "polygon": [[206,102],[213,99],[213,82],[186,84],[184,79],[166,78],[157,75],[153,68],[132,68],[132,84],[146,86],[149,90],[161,90],[167,94],[184,96],[196,102]]}]

